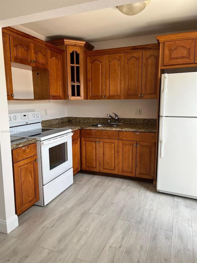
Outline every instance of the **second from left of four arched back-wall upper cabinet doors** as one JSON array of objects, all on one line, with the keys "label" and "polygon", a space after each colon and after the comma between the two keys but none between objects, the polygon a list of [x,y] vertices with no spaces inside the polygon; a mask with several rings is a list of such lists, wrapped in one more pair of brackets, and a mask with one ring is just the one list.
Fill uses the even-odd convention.
[{"label": "second from left of four arched back-wall upper cabinet doors", "polygon": [[123,99],[124,54],[105,55],[105,97]]}]

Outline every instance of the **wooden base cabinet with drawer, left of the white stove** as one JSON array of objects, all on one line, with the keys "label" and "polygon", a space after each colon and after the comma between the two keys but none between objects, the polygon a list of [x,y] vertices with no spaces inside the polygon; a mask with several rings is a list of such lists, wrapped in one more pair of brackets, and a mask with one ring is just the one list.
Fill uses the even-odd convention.
[{"label": "wooden base cabinet with drawer, left of the white stove", "polygon": [[16,214],[39,200],[38,159],[36,143],[12,150]]}]

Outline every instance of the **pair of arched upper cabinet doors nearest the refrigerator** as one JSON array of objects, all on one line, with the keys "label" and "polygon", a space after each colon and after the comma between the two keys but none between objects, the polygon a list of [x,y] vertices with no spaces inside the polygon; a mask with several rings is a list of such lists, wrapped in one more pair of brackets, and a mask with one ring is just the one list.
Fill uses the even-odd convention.
[{"label": "pair of arched upper cabinet doors nearest the refrigerator", "polygon": [[159,49],[124,54],[124,99],[156,99]]}]

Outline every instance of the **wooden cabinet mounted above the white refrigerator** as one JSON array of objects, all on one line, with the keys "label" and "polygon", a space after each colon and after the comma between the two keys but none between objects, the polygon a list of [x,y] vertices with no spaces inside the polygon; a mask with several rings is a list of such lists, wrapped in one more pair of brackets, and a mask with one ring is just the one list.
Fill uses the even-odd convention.
[{"label": "wooden cabinet mounted above the white refrigerator", "polygon": [[160,67],[183,68],[196,66],[197,31],[157,36],[160,43]]}]

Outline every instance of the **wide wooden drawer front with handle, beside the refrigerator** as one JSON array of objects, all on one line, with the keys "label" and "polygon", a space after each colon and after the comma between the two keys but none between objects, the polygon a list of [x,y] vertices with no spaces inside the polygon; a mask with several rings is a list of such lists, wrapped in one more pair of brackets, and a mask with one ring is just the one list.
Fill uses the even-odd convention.
[{"label": "wide wooden drawer front with handle, beside the refrigerator", "polygon": [[119,131],[118,139],[126,141],[156,142],[156,133]]}]

